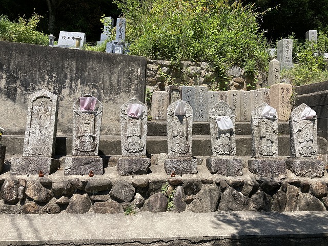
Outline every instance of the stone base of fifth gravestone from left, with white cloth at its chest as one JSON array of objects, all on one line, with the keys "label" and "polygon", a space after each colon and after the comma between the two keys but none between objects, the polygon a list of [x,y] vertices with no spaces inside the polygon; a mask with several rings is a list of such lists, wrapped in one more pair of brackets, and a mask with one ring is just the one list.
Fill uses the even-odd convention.
[{"label": "stone base of fifth gravestone from left, with white cloth at its chest", "polygon": [[224,176],[241,176],[242,159],[232,156],[209,157],[206,166],[212,174]]}]

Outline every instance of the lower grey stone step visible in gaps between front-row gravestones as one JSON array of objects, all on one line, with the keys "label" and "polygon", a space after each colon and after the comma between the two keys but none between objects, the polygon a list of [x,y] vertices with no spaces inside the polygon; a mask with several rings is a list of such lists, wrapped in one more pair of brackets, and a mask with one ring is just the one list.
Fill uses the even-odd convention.
[{"label": "lower grey stone step visible in gaps between front-row gravestones", "polygon": [[[99,155],[120,155],[121,137],[119,135],[100,136]],[[5,135],[3,144],[7,146],[6,154],[22,154],[24,145],[24,135]],[[252,137],[250,135],[236,135],[236,155],[251,156]],[[147,153],[150,155],[167,153],[166,136],[147,136]],[[327,140],[318,137],[318,153],[327,153]],[[57,136],[56,155],[72,154],[72,136]],[[290,136],[278,135],[278,154],[290,155]],[[210,156],[211,138],[210,135],[194,135],[192,141],[192,155]]]}]

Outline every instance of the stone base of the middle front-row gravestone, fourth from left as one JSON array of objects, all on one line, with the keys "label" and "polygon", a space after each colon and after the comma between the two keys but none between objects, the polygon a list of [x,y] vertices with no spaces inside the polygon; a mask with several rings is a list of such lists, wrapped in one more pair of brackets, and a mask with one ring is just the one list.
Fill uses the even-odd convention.
[{"label": "stone base of the middle front-row gravestone, fourth from left", "polygon": [[197,160],[192,157],[167,158],[164,160],[164,168],[167,175],[172,171],[175,174],[193,174],[197,171]]}]

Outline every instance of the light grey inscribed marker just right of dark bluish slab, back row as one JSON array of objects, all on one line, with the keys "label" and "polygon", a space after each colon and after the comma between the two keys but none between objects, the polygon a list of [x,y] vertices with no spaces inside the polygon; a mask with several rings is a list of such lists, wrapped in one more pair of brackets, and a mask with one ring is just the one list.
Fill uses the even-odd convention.
[{"label": "light grey inscribed marker just right of dark bluish slab, back row", "polygon": [[195,103],[193,108],[193,120],[208,121],[208,91],[206,86],[195,86]]}]

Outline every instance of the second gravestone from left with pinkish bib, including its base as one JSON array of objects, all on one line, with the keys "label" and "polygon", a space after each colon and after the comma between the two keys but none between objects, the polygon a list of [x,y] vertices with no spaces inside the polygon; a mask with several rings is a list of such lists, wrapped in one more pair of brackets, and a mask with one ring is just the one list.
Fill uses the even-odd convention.
[{"label": "second gravestone from left with pinkish bib, including its base", "polygon": [[90,171],[103,175],[103,159],[98,155],[103,104],[86,94],[73,104],[72,156],[65,158],[64,175],[83,175]]}]

